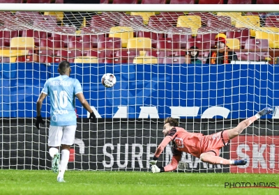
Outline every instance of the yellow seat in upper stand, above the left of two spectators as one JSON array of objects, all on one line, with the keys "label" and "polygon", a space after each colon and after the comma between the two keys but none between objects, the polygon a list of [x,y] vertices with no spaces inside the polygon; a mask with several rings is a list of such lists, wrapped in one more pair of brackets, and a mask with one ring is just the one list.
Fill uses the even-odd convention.
[{"label": "yellow seat in upper stand, above the left of two spectators", "polygon": [[198,15],[181,15],[177,19],[176,26],[190,28],[192,29],[193,34],[196,34],[197,29],[202,27],[202,20]]}]

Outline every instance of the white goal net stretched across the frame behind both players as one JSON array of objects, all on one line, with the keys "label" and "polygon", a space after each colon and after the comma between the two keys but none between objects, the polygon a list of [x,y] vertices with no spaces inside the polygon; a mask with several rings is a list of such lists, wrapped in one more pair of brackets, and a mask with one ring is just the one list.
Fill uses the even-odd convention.
[{"label": "white goal net stretched across the frame behind both players", "polygon": [[[188,132],[212,134],[272,107],[273,115],[220,151],[226,159],[247,158],[246,166],[210,165],[183,153],[176,171],[279,172],[277,13],[186,5],[8,6],[0,8],[1,169],[51,168],[50,101],[42,107],[46,125],[37,130],[36,100],[67,60],[98,118],[89,123],[76,102],[68,169],[149,171],[164,118],[177,118]],[[113,88],[100,83],[108,72],[117,80]],[[171,159],[169,144],[158,165]]]}]

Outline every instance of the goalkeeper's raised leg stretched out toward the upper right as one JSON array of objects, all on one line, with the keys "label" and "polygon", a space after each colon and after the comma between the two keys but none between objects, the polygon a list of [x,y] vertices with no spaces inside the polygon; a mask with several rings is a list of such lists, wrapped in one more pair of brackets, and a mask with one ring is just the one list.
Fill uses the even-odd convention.
[{"label": "goalkeeper's raised leg stretched out toward the upper right", "polygon": [[270,114],[271,111],[272,109],[267,107],[255,114],[255,116],[246,118],[246,120],[243,120],[241,123],[239,123],[239,125],[237,125],[233,129],[227,130],[228,138],[233,139],[234,137],[239,136],[239,134],[241,134],[241,132],[245,130],[249,125],[251,125],[255,120],[259,119],[261,116]]}]

